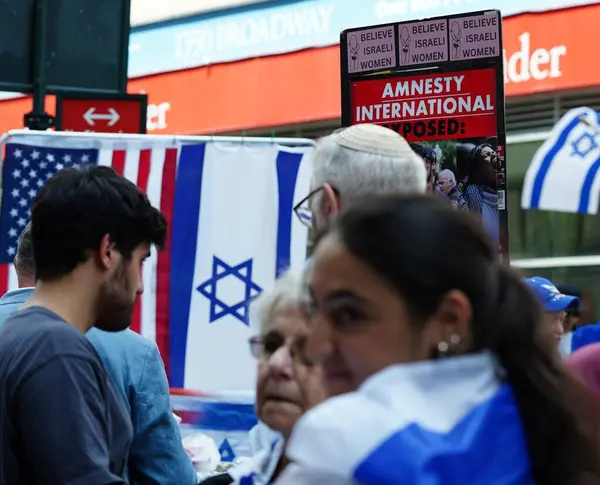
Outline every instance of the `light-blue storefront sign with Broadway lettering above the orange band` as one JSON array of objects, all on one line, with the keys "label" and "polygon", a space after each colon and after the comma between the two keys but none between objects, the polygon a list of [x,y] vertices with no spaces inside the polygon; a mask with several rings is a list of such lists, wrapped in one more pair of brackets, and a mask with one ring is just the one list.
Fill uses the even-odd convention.
[{"label": "light-blue storefront sign with Broadway lettering above the orange band", "polygon": [[[500,3],[497,0],[360,0],[352,8],[348,7],[348,0],[256,4],[168,26],[134,29],[129,45],[129,76],[335,45],[342,30],[359,25],[460,14],[474,9],[500,7],[502,15],[507,16],[593,3],[591,0],[570,0],[567,5],[559,0]],[[476,34],[469,34],[470,31],[468,28],[464,33],[465,38]]]}]

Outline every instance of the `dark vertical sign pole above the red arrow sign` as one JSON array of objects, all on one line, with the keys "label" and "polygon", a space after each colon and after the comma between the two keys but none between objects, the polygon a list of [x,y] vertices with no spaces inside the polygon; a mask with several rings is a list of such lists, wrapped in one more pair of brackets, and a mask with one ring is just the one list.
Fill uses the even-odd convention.
[{"label": "dark vertical sign pole above the red arrow sign", "polygon": [[54,126],[54,118],[46,113],[46,0],[36,0],[33,47],[33,110],[24,117],[30,130],[45,131]]}]

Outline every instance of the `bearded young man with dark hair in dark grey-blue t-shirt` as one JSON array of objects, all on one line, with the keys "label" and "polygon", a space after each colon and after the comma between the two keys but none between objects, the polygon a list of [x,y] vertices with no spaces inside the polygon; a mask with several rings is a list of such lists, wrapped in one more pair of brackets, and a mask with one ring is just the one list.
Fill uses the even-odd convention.
[{"label": "bearded young man with dark hair in dark grey-blue t-shirt", "polygon": [[31,223],[36,288],[0,329],[0,483],[125,484],[131,419],[84,334],[129,326],[165,219],[92,166],[52,177]]}]

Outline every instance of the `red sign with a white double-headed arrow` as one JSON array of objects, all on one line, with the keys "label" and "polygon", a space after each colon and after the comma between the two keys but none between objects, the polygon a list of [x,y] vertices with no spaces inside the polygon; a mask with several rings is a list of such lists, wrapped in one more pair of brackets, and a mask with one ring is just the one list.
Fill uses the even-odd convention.
[{"label": "red sign with a white double-headed arrow", "polygon": [[147,97],[57,98],[58,129],[99,133],[146,133]]}]

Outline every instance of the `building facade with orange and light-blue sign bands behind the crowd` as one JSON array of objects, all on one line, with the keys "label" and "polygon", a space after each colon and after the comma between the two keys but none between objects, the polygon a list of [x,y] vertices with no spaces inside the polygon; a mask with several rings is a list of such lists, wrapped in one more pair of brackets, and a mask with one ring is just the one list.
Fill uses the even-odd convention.
[{"label": "building facade with orange and light-blue sign bands behind the crowd", "polygon": [[[318,137],[339,126],[344,28],[495,8],[491,0],[133,0],[129,92],[149,96],[156,134]],[[173,2],[171,2],[173,3]],[[567,110],[600,110],[589,40],[600,3],[504,0],[509,232],[526,272],[600,295],[595,216],[523,211],[532,154]],[[529,12],[529,13],[523,13]],[[10,97],[11,95],[9,95]],[[54,111],[50,97],[47,110]],[[0,101],[0,131],[22,126],[31,100]],[[582,259],[584,257],[584,259]],[[597,259],[595,259],[597,257]]]}]

